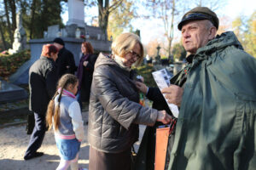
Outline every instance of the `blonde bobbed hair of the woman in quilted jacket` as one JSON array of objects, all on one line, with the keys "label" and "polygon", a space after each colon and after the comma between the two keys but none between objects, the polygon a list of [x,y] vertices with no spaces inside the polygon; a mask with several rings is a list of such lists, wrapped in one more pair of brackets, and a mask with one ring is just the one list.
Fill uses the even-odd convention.
[{"label": "blonde bobbed hair of the woman in quilted jacket", "polygon": [[141,47],[140,58],[137,59],[136,65],[140,65],[143,62],[144,49],[143,44],[140,41],[140,37],[131,32],[122,33],[112,43],[112,53],[118,55],[121,58],[125,57],[125,54],[129,53],[136,44]]}]

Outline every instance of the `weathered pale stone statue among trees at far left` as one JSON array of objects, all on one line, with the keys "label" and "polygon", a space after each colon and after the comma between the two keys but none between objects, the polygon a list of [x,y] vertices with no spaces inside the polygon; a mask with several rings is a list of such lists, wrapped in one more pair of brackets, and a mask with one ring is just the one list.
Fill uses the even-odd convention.
[{"label": "weathered pale stone statue among trees at far left", "polygon": [[13,43],[13,48],[9,49],[9,54],[15,54],[22,49],[26,48],[26,31],[22,26],[22,16],[20,11],[16,14],[16,29],[15,29],[15,41]]}]

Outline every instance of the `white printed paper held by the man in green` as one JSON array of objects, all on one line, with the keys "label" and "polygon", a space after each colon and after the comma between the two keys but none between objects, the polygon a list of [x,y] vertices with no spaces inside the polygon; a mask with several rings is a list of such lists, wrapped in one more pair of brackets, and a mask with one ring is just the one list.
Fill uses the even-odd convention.
[{"label": "white printed paper held by the man in green", "polygon": [[[156,84],[157,84],[158,88],[160,88],[160,90],[162,88],[167,88],[171,85],[171,83],[170,83],[171,77],[168,76],[166,69],[162,69],[160,71],[154,71],[154,72],[152,72],[152,74],[154,77],[154,81],[156,82]],[[164,98],[166,99],[165,95],[164,95]],[[166,99],[166,102],[167,102],[167,99]],[[172,111],[172,115],[177,117],[178,113],[179,113],[177,105],[169,104],[168,102],[167,102],[167,105],[169,106],[170,110]]]}]

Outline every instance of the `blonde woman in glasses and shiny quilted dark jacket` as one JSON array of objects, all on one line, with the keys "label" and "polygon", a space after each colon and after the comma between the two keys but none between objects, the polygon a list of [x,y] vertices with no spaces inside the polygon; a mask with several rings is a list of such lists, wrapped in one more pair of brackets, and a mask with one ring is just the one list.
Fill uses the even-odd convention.
[{"label": "blonde woman in glasses and shiny quilted dark jacket", "polygon": [[166,111],[139,105],[132,65],[143,61],[143,44],[133,33],[112,43],[112,53],[96,60],[90,89],[88,140],[90,170],[130,170],[131,146],[138,139],[138,124],[170,122]]}]

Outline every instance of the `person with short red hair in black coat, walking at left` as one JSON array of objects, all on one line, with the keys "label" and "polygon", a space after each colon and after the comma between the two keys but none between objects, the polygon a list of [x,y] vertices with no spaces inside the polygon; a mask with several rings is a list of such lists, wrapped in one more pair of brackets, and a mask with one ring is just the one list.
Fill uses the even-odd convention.
[{"label": "person with short red hair in black coat, walking at left", "polygon": [[58,48],[52,44],[43,46],[40,58],[29,69],[29,110],[34,112],[35,127],[31,135],[24,159],[43,156],[37,152],[46,131],[45,114],[49,100],[55,94],[58,81],[55,60],[58,58]]}]

